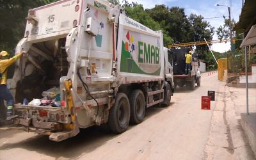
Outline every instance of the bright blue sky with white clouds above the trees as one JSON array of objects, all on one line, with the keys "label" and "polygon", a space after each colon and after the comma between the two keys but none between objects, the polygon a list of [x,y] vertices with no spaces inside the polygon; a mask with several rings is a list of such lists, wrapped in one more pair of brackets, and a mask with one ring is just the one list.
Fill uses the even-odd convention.
[{"label": "bright blue sky with white clouds above the trees", "polygon": [[[243,0],[128,0],[129,3],[137,2],[143,4],[145,8],[154,8],[156,4],[164,4],[168,7],[179,6],[185,8],[185,13],[189,16],[191,13],[196,15],[202,15],[204,18],[221,17],[216,19],[205,19],[210,22],[214,27],[214,31],[224,24],[223,15],[228,18],[228,8],[231,6],[230,15],[231,19],[236,22],[239,21],[239,15],[241,14],[241,8]],[[226,6],[215,6],[215,4],[221,4]],[[213,40],[217,40],[218,36],[215,34]],[[211,49],[216,52],[225,52],[230,49],[230,42],[213,44]]]}]

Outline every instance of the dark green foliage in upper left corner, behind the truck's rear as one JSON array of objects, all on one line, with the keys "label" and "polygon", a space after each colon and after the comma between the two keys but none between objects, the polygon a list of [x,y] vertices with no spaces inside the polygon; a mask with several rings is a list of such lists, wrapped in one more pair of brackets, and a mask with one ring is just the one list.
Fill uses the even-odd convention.
[{"label": "dark green foliage in upper left corner, behind the truck's rear", "polygon": [[12,52],[24,35],[28,10],[56,0],[0,0],[0,50]]}]

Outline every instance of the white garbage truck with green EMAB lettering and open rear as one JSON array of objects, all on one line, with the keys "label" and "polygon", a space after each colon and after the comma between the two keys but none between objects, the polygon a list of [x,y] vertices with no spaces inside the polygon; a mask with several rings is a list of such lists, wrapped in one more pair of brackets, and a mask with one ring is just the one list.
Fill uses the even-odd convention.
[{"label": "white garbage truck with green EMAB lettering and open rear", "polygon": [[15,51],[26,54],[10,84],[16,124],[61,141],[92,125],[122,133],[143,121],[146,108],[170,105],[172,56],[163,32],[121,6],[63,0],[29,10],[26,20]]}]

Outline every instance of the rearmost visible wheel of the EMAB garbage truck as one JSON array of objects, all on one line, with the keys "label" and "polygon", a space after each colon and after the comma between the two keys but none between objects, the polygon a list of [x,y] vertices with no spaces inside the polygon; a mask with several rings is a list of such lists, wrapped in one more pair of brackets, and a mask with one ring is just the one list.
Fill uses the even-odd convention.
[{"label": "rearmost visible wheel of the EMAB garbage truck", "polygon": [[109,112],[109,128],[114,133],[127,130],[130,121],[130,103],[125,93],[117,93],[115,105]]}]

